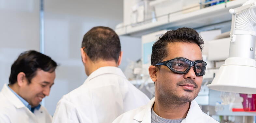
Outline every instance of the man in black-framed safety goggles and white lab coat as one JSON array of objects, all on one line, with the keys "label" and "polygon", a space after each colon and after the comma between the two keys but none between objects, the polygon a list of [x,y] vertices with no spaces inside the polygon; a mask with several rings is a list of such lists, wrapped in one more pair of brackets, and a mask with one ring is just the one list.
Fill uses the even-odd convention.
[{"label": "man in black-framed safety goggles and white lab coat", "polygon": [[191,28],[167,31],[152,47],[149,75],[155,97],[146,106],[119,116],[113,123],[218,123],[196,101],[207,64],[203,39]]}]

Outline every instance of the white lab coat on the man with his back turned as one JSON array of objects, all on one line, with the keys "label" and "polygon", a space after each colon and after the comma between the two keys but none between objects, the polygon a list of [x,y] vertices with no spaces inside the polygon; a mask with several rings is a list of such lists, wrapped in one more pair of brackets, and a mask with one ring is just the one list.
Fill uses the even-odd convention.
[{"label": "white lab coat on the man with his back turned", "polygon": [[52,123],[111,123],[149,98],[118,67],[101,67],[58,102]]}]

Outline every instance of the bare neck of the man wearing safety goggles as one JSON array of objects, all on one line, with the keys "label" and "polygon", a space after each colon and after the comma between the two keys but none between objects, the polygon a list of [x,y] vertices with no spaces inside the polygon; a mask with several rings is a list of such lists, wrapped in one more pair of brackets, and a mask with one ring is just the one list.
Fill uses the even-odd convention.
[{"label": "bare neck of the man wearing safety goggles", "polygon": [[168,104],[168,106],[165,106],[164,104],[161,104],[156,98],[153,105],[153,110],[160,117],[166,119],[180,119],[187,116],[189,107],[190,102]]}]

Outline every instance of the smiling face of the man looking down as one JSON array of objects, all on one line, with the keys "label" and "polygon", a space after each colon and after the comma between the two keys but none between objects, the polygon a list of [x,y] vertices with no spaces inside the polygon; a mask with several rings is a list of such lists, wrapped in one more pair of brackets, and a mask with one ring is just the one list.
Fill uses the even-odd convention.
[{"label": "smiling face of the man looking down", "polygon": [[36,76],[31,79],[31,83],[21,86],[21,97],[32,107],[38,106],[45,96],[50,94],[50,88],[54,84],[55,72],[49,73],[41,69],[36,71]]}]

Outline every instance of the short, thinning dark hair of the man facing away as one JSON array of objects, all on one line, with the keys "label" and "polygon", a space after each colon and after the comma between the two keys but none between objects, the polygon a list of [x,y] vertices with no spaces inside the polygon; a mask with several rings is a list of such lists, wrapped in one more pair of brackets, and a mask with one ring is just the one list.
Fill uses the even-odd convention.
[{"label": "short, thinning dark hair of the man facing away", "polygon": [[116,32],[108,27],[94,27],[83,37],[82,48],[92,61],[102,59],[118,62],[121,52],[120,39]]}]

